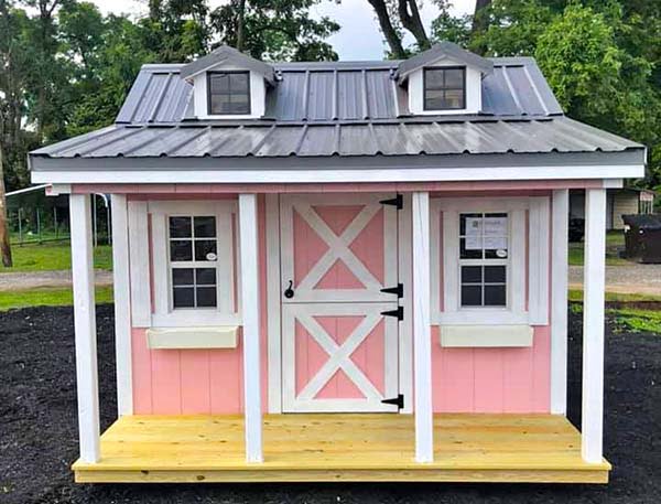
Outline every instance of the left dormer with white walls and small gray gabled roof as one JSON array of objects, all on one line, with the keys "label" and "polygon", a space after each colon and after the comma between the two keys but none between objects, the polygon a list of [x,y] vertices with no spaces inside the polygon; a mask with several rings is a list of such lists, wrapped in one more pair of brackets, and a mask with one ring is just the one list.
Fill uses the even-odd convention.
[{"label": "left dormer with white walls and small gray gabled roof", "polygon": [[181,77],[193,84],[197,119],[259,119],[275,82],[271,65],[228,45],[185,65]]}]

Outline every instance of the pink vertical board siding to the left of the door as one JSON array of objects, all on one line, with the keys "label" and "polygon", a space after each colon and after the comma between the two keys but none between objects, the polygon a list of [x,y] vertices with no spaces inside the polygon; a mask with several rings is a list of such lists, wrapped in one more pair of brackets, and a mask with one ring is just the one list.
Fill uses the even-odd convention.
[{"label": "pink vertical board siding to the left of the door", "polygon": [[[258,199],[260,307],[266,313],[266,213]],[[236,264],[236,262],[235,262]],[[238,268],[235,268],[235,270]],[[262,409],[267,409],[267,318],[260,320]],[[136,415],[239,414],[243,410],[242,334],[231,350],[150,350],[145,329],[131,330]]]}]

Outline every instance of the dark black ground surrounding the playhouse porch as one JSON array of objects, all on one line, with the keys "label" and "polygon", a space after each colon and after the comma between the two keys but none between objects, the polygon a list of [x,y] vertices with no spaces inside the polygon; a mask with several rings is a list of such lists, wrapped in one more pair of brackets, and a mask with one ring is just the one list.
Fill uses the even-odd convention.
[{"label": "dark black ground surrounding the playhouse porch", "polygon": [[[98,310],[102,428],[115,416],[112,309]],[[0,503],[659,503],[661,335],[614,334],[606,348],[605,452],[611,483],[76,485],[71,308],[0,313]],[[572,317],[570,418],[579,425],[581,320]]]}]

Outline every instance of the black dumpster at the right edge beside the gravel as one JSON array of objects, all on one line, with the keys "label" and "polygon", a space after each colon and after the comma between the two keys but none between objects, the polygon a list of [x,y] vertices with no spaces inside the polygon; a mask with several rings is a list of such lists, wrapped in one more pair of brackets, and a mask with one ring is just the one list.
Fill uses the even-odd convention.
[{"label": "black dumpster at the right edge beside the gravel", "polygon": [[661,264],[661,214],[622,215],[629,259]]}]

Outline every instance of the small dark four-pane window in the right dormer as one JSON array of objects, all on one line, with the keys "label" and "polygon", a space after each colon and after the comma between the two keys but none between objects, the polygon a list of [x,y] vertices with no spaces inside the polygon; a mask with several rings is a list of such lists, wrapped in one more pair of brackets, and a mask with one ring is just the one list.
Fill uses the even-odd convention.
[{"label": "small dark four-pane window in the right dormer", "polygon": [[460,110],[466,108],[466,68],[425,68],[424,109]]}]

